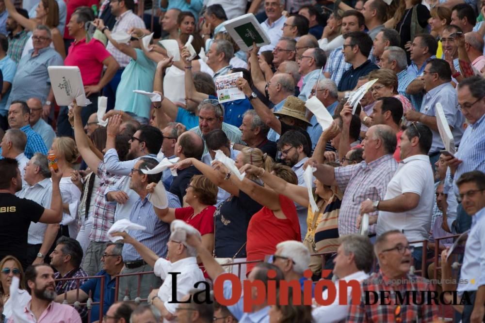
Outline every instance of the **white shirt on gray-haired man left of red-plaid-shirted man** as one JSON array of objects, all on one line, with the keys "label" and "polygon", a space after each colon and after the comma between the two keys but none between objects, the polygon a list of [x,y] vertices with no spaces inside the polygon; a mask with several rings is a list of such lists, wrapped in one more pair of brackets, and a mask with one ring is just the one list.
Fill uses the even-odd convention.
[{"label": "white shirt on gray-haired man left of red-plaid-shirted man", "polygon": [[[358,280],[361,282],[364,279],[369,278],[369,275],[364,273],[363,271],[358,271],[354,274],[350,274],[348,276],[343,277],[340,280],[345,280],[349,282],[351,280]],[[345,321],[347,318],[347,314],[349,313],[349,305],[351,302],[351,293],[352,288],[347,288],[347,305],[340,305],[339,304],[339,280],[335,281],[335,289],[337,293],[335,294],[335,299],[332,304],[328,306],[319,306],[313,308],[311,314],[313,316],[313,320],[315,323],[333,323],[333,322],[341,322]],[[322,293],[322,298],[328,298],[328,289],[324,290]]]}]

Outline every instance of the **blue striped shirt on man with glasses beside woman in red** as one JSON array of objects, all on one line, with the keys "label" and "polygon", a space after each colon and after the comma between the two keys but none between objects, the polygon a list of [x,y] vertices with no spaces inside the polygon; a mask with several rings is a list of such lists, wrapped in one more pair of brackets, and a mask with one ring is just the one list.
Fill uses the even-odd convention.
[{"label": "blue striped shirt on man with glasses beside woman in red", "polygon": [[[177,207],[177,204],[180,207],[177,197],[173,199],[170,195],[167,195],[167,198],[169,198],[169,207]],[[145,226],[146,230],[129,230],[128,234],[155,252],[157,256],[165,258],[167,255],[167,242],[170,237],[170,224],[161,221],[157,217],[152,203],[148,201],[148,197],[145,197],[143,200],[139,197],[136,200],[131,209],[129,220]],[[138,251],[130,244],[123,245],[121,255],[125,262],[137,261],[142,258]]]}]

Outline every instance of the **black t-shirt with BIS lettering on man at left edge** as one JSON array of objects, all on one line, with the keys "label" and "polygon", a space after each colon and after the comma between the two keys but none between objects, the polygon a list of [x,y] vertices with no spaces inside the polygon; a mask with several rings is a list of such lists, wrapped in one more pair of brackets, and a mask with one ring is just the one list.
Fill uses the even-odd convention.
[{"label": "black t-shirt with BIS lettering on man at left edge", "polygon": [[27,234],[30,223],[38,222],[44,207],[32,200],[0,193],[0,259],[12,255],[24,268],[27,256]]}]

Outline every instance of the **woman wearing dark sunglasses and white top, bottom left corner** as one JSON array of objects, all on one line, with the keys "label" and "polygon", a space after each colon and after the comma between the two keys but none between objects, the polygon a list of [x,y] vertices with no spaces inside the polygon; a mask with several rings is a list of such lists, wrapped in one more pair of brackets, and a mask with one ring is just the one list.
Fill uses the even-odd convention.
[{"label": "woman wearing dark sunglasses and white top, bottom left corner", "polygon": [[[10,285],[12,278],[16,276],[20,279],[18,292],[19,297],[16,299],[16,304],[10,301]],[[12,315],[12,310],[16,308],[24,308],[31,300],[31,296],[25,290],[24,271],[14,256],[6,256],[0,261],[0,297],[3,303],[3,315],[9,318]]]}]

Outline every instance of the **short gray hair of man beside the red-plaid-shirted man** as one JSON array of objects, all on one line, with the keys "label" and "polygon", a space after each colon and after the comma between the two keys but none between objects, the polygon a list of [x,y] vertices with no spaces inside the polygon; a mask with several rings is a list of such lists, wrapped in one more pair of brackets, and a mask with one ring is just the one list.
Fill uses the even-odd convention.
[{"label": "short gray hair of man beside the red-plaid-shirted man", "polygon": [[339,238],[345,255],[354,254],[354,262],[358,270],[369,273],[372,270],[374,257],[369,237],[360,234],[349,234]]}]

